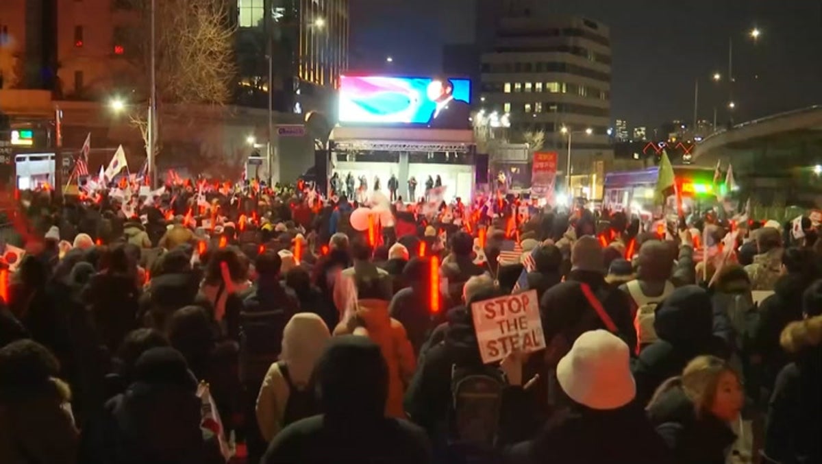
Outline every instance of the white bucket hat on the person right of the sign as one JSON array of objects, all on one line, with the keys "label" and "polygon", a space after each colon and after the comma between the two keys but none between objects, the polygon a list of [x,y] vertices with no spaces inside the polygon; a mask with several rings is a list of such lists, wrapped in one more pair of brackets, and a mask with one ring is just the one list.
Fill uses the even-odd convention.
[{"label": "white bucket hat on the person right of the sign", "polygon": [[611,332],[585,332],[556,364],[556,380],[566,395],[583,406],[612,410],[636,396],[628,346]]}]

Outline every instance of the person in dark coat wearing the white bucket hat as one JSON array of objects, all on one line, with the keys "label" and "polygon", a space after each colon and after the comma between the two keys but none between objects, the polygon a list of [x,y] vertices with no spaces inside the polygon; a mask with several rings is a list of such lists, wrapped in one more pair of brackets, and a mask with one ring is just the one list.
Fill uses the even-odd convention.
[{"label": "person in dark coat wearing the white bucket hat", "polygon": [[[501,364],[514,390],[510,396],[515,392],[524,396],[522,365],[511,358],[515,356]],[[538,434],[525,439],[531,436],[522,426],[522,418],[529,414],[528,401],[503,404],[506,462],[671,462],[663,441],[635,402],[629,360],[629,347],[612,333],[596,330],[580,335],[556,366],[557,382],[570,399],[568,406],[555,411]]]}]

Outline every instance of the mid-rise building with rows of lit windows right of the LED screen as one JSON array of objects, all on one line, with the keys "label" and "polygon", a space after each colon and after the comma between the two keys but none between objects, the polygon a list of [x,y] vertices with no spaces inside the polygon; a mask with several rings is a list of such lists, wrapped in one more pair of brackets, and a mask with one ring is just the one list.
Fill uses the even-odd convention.
[{"label": "mid-rise building with rows of lit windows right of the LED screen", "polygon": [[601,197],[598,172],[613,157],[610,31],[583,17],[535,16],[529,8],[514,15],[500,19],[483,53],[483,108],[509,114],[513,133],[545,132],[543,150],[562,153],[557,169],[566,183],[570,138],[572,190]]}]

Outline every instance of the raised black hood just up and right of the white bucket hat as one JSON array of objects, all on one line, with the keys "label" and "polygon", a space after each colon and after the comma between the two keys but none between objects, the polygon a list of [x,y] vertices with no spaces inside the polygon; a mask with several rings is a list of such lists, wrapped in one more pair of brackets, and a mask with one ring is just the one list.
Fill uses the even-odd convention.
[{"label": "raised black hood just up and right of the white bucket hat", "polygon": [[657,336],[677,344],[704,341],[713,335],[713,309],[708,292],[696,285],[674,290],[656,309]]}]

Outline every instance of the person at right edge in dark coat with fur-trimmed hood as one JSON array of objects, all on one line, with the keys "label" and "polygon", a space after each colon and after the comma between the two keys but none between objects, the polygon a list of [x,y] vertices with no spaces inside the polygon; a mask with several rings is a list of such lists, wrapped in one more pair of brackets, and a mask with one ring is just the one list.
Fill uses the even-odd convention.
[{"label": "person at right edge in dark coat with fur-trimmed hood", "polygon": [[[813,291],[811,291],[813,290]],[[782,332],[782,347],[795,359],[782,369],[770,398],[765,426],[767,462],[805,464],[822,462],[820,451],[820,392],[822,392],[822,282],[806,294],[814,313],[791,322]]]}]

